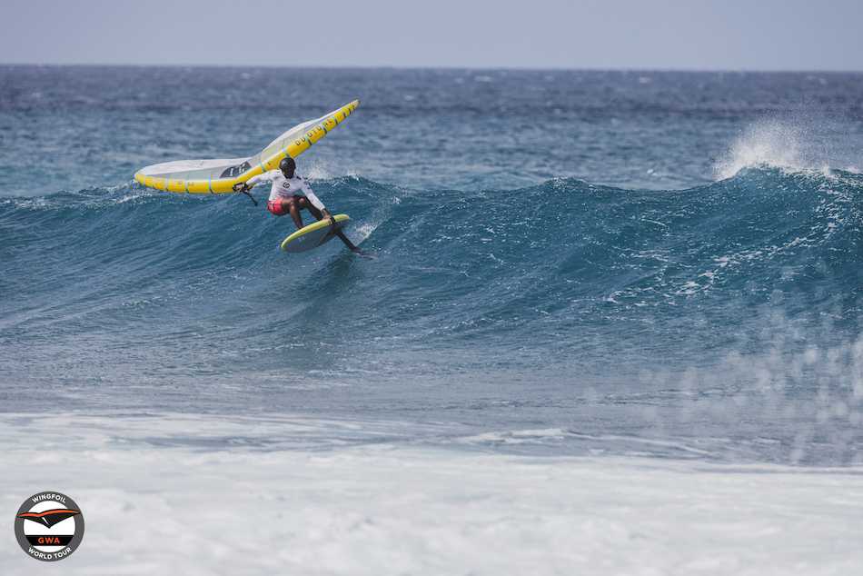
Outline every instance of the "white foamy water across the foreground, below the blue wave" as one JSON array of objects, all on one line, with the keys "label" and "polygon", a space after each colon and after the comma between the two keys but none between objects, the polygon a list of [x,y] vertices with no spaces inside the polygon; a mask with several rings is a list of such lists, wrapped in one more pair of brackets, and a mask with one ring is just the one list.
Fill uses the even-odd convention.
[{"label": "white foamy water across the foreground, below the blue wave", "polygon": [[[64,574],[832,574],[863,569],[858,469],[540,458],[392,442],[160,445],[360,422],[0,417],[0,517],[40,490],[84,512]],[[511,438],[556,436],[525,431]],[[291,444],[292,442],[287,442]],[[5,573],[37,568],[10,533]],[[43,566],[38,566],[43,568]],[[59,566],[57,568],[60,568]]]}]

